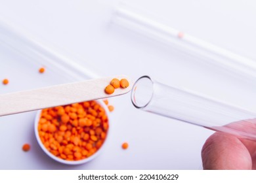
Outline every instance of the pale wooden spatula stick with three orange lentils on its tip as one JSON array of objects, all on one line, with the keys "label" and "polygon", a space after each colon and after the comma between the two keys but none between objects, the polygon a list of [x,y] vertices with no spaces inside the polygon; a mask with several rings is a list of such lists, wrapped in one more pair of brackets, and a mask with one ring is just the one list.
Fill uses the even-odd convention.
[{"label": "pale wooden spatula stick with three orange lentils on its tip", "polygon": [[[104,89],[110,84],[112,78],[126,78],[129,81],[129,87],[117,88],[114,93],[106,94]],[[131,91],[132,87],[131,80],[127,76],[120,75],[7,93],[0,95],[0,116],[114,97]]]}]

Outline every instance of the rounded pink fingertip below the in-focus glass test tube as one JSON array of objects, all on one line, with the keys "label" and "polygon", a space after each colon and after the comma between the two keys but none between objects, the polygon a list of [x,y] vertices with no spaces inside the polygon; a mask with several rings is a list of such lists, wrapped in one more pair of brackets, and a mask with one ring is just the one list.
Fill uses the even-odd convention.
[{"label": "rounded pink fingertip below the in-focus glass test tube", "polygon": [[251,169],[251,156],[244,144],[233,135],[214,133],[202,148],[203,169]]}]

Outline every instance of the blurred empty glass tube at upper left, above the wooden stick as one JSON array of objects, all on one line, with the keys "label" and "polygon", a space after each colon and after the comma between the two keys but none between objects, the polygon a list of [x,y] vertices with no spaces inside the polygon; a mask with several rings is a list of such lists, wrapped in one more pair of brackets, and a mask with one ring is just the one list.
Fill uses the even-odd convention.
[{"label": "blurred empty glass tube at upper left, above the wooden stick", "polygon": [[[44,65],[51,65],[56,67],[57,72],[65,71],[66,77],[70,79],[75,78],[77,80],[84,80],[88,76],[90,78],[98,78],[98,73],[87,69],[87,67],[81,67],[81,65],[74,62],[74,59],[69,56],[60,54],[54,48],[49,45],[43,44],[43,42],[32,37],[30,33],[20,29],[9,21],[5,20],[0,15],[0,46],[3,45],[10,50],[14,50],[28,60],[38,60],[44,62]],[[89,68],[89,67],[88,67]]]}]

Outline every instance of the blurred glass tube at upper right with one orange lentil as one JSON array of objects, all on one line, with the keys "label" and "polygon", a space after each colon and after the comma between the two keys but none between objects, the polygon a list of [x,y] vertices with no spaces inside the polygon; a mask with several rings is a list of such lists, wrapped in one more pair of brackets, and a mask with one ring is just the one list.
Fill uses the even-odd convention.
[{"label": "blurred glass tube at upper right with one orange lentil", "polygon": [[219,69],[224,69],[224,71],[233,73],[235,76],[246,78],[246,82],[251,81],[254,84],[256,78],[255,60],[240,56],[148,18],[142,12],[142,10],[137,10],[125,4],[119,5],[116,8],[116,16],[114,16],[113,22],[149,39],[163,42],[171,49],[199,58],[204,63],[216,65]]}]

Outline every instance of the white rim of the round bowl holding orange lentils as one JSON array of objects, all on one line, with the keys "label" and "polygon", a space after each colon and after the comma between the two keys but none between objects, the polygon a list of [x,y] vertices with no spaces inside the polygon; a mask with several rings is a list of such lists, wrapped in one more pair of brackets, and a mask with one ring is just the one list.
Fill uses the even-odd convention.
[{"label": "white rim of the round bowl holding orange lentils", "polygon": [[58,161],[60,163],[64,163],[66,165],[80,165],[80,164],[83,164],[83,163],[87,163],[88,161],[91,161],[92,159],[96,158],[98,156],[98,154],[100,154],[102,152],[102,150],[104,149],[104,146],[106,144],[106,141],[108,140],[108,135],[110,133],[110,113],[109,113],[109,110],[108,110],[108,107],[105,105],[105,103],[102,101],[102,100],[97,100],[96,101],[98,104],[100,104],[101,107],[104,108],[105,112],[106,112],[106,115],[108,116],[108,132],[106,133],[106,139],[104,140],[102,146],[95,152],[95,154],[93,154],[92,156],[90,156],[89,158],[85,158],[85,159],[81,159],[81,160],[77,160],[77,161],[68,161],[68,160],[65,160],[65,159],[61,159],[61,158],[58,158],[56,156],[54,156],[53,154],[51,154],[51,152],[49,152],[49,150],[47,150],[47,148],[45,148],[45,146],[43,145],[43,142],[41,142],[41,139],[39,137],[39,132],[38,132],[38,124],[39,124],[39,118],[40,118],[40,115],[41,115],[41,110],[38,110],[37,111],[37,114],[35,116],[35,137],[37,139],[37,142],[39,144],[39,146],[42,148],[42,150],[45,152],[45,154],[47,154],[50,158],[54,159],[55,161]]}]

